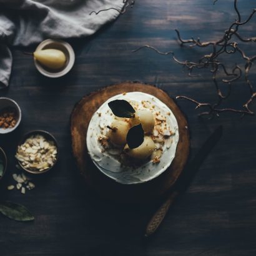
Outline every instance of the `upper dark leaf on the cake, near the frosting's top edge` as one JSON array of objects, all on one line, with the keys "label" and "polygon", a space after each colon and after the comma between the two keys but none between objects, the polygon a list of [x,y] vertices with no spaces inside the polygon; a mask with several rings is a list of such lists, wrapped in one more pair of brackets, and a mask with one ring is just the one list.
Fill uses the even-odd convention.
[{"label": "upper dark leaf on the cake, near the frosting's top edge", "polygon": [[116,99],[108,103],[113,114],[117,117],[134,117],[135,110],[128,101],[124,99]]}]

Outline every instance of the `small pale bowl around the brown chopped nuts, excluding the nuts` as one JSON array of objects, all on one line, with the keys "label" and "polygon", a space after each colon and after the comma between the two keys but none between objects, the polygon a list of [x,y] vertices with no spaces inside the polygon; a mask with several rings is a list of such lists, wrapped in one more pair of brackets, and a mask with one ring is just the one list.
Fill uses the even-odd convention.
[{"label": "small pale bowl around the brown chopped nuts, excluding the nuts", "polygon": [[2,111],[2,109],[5,109],[7,107],[11,107],[15,109],[16,115],[17,115],[16,125],[12,128],[6,128],[6,129],[0,127],[0,134],[7,134],[9,132],[12,132],[12,130],[15,130],[19,126],[19,123],[21,122],[21,108],[19,107],[17,102],[6,97],[0,97],[0,111]]}]

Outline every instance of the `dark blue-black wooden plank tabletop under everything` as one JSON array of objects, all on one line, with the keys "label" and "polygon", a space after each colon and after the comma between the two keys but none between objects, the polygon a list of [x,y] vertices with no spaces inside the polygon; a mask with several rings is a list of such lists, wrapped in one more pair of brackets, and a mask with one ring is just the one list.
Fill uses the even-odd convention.
[{"label": "dark blue-black wooden plank tabletop under everything", "polygon": [[[255,1],[239,1],[242,17]],[[72,39],[76,64],[66,77],[47,79],[36,71],[30,56],[13,49],[14,63],[9,89],[22,109],[22,123],[13,134],[1,135],[0,145],[9,158],[7,175],[0,184],[1,199],[26,205],[34,222],[15,222],[0,216],[0,255],[256,255],[256,121],[222,114],[200,119],[194,105],[178,101],[190,126],[191,153],[222,124],[224,135],[200,168],[189,190],[167,214],[149,240],[144,226],[159,202],[122,205],[102,200],[84,185],[71,153],[69,116],[82,96],[122,81],[155,84],[174,97],[178,94],[199,101],[215,101],[209,74],[191,78],[170,56],[147,49],[173,50],[180,59],[198,59],[200,49],[180,47],[175,28],[182,36],[217,39],[234,21],[233,1],[137,1],[132,10],[105,26],[95,36]],[[255,21],[244,26],[255,36]],[[32,51],[35,46],[27,51]],[[244,46],[249,55],[255,44]],[[237,56],[233,62],[237,61]],[[254,67],[250,78],[255,81]],[[241,106],[248,91],[236,82],[229,103]],[[254,104],[254,111],[256,111]],[[24,132],[44,129],[59,142],[61,157],[55,170],[34,180],[36,189],[26,195],[7,191],[11,174],[17,173],[14,152]]]}]

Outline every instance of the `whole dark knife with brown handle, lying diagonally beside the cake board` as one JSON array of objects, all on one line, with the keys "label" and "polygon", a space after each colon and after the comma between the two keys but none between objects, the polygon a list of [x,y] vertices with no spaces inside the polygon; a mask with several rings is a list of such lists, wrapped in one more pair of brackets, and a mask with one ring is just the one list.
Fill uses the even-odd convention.
[{"label": "whole dark knife with brown handle, lying diagonally beside the cake board", "polygon": [[145,229],[145,237],[149,237],[150,235],[154,234],[155,230],[157,230],[167,214],[170,205],[174,203],[174,200],[178,195],[182,194],[189,187],[190,182],[194,178],[197,170],[199,170],[200,166],[207,158],[207,155],[209,155],[210,151],[220,140],[220,137],[222,137],[222,130],[222,126],[217,127],[217,129],[215,129],[210,137],[204,142],[199,152],[197,152],[195,157],[190,161],[187,167],[185,167],[177,182],[175,182],[174,189],[172,189],[170,194],[167,196],[167,200],[165,200],[164,204],[159,207],[157,212],[155,212],[147,224]]}]

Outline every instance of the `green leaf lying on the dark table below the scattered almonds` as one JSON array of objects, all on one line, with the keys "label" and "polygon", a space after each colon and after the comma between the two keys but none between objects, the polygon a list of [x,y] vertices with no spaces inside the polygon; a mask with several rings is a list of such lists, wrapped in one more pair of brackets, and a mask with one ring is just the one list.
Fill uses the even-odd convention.
[{"label": "green leaf lying on the dark table below the scattered almonds", "polygon": [[17,221],[31,221],[34,216],[21,204],[15,204],[9,201],[0,203],[0,212],[9,219]]}]

